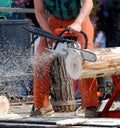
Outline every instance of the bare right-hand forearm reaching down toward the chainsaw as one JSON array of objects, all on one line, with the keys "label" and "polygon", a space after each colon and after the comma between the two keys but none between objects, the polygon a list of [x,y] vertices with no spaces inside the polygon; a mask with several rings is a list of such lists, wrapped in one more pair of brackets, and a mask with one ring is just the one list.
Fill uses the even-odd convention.
[{"label": "bare right-hand forearm reaching down toward the chainsaw", "polygon": [[93,2],[92,0],[81,0],[82,2],[82,7],[80,9],[80,13],[76,19],[79,23],[82,23],[84,19],[89,16],[92,8],[93,8]]}]

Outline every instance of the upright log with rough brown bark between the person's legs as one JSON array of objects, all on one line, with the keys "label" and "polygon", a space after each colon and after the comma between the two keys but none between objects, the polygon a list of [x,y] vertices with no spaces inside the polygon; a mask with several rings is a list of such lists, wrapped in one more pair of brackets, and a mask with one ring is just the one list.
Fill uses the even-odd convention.
[{"label": "upright log with rough brown bark between the person's legs", "polygon": [[51,65],[51,103],[55,112],[72,112],[76,109],[73,80],[66,72],[64,60],[64,56],[57,56]]}]

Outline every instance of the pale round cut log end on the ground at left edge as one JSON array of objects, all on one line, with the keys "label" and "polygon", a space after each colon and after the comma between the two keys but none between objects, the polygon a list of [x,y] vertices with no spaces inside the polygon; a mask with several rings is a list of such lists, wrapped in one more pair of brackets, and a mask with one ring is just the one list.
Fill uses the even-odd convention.
[{"label": "pale round cut log end on the ground at left edge", "polygon": [[8,113],[10,108],[9,100],[6,96],[0,96],[0,116]]}]

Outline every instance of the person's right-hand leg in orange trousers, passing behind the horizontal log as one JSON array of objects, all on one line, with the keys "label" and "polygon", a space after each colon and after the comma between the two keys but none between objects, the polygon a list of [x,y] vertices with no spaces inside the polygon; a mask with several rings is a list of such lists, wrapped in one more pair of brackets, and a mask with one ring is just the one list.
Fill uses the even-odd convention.
[{"label": "person's right-hand leg in orange trousers, passing behind the horizontal log", "polygon": [[[87,27],[86,27],[87,26]],[[82,30],[86,33],[88,37],[88,49],[93,47],[93,37],[94,28],[90,22],[89,17],[85,19],[82,24]],[[78,37],[78,42],[84,48],[84,38],[83,36]],[[86,117],[96,116],[96,106],[98,106],[97,98],[97,81],[94,78],[82,79],[80,81],[80,92],[82,97],[82,108],[86,108]]]}]

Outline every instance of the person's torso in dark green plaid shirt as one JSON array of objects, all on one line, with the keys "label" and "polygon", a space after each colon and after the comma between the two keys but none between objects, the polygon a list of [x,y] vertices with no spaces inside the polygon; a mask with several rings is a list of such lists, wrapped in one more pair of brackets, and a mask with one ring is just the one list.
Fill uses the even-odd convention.
[{"label": "person's torso in dark green plaid shirt", "polygon": [[78,16],[80,0],[44,0],[46,9],[59,19],[74,19]]}]

